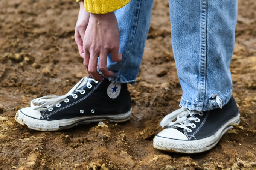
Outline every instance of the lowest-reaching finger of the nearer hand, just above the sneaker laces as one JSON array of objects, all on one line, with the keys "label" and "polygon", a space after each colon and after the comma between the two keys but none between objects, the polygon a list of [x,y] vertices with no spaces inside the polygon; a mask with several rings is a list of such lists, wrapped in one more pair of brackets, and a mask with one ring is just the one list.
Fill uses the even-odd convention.
[{"label": "lowest-reaching finger of the nearer hand, just above the sneaker laces", "polygon": [[95,80],[102,81],[101,75],[99,75],[97,71],[97,64],[98,64],[98,54],[91,54],[90,53],[90,60],[88,65],[88,73],[93,77]]}]

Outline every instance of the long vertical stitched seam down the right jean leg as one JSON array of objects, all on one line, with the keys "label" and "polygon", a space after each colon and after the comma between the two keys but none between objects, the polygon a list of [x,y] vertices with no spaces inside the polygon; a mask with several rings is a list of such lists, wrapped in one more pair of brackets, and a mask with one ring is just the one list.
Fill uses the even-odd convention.
[{"label": "long vertical stitched seam down the right jean leg", "polygon": [[200,40],[200,77],[199,107],[203,108],[206,95],[206,61],[207,61],[207,0],[201,0],[201,40]]}]

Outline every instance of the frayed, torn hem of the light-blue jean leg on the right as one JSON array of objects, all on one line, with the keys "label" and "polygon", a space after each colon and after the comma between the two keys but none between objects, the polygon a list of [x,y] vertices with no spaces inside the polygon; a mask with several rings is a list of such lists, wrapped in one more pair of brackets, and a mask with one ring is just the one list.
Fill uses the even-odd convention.
[{"label": "frayed, torn hem of the light-blue jean leg on the right", "polygon": [[221,95],[219,93],[209,93],[204,101],[203,107],[197,106],[197,99],[185,99],[186,97],[182,96],[180,101],[180,107],[188,108],[196,111],[208,111],[216,108],[222,108],[226,105],[232,96],[232,90]]}]

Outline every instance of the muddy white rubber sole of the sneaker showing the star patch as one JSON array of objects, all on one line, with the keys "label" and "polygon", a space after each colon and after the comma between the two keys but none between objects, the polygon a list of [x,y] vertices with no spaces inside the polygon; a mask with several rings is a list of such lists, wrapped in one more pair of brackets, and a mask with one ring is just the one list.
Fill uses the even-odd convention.
[{"label": "muddy white rubber sole of the sneaker showing the star patch", "polygon": [[100,115],[100,116],[82,116],[71,119],[62,120],[40,120],[34,119],[17,111],[15,120],[23,126],[27,126],[29,129],[37,131],[58,131],[62,129],[72,128],[80,124],[88,124],[91,122],[99,122],[102,120],[110,120],[110,122],[125,122],[131,118],[131,110],[124,114],[117,115]]}]

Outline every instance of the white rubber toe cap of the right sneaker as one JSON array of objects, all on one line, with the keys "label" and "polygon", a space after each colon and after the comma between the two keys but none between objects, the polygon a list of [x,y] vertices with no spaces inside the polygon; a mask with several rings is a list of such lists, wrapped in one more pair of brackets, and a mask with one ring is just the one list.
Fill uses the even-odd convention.
[{"label": "white rubber toe cap of the right sneaker", "polygon": [[187,136],[177,129],[168,128],[163,129],[160,133],[157,134],[158,137],[178,139],[178,140],[188,140]]}]

